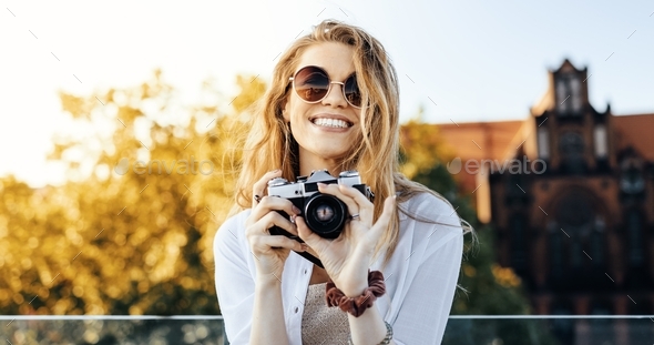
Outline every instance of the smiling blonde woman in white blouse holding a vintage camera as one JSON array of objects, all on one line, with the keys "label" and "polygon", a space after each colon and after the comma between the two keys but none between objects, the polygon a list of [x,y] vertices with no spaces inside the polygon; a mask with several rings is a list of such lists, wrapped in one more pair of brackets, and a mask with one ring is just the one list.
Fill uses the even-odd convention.
[{"label": "smiling blonde woman in white blouse holding a vintage camera", "polygon": [[[324,21],[282,55],[258,106],[236,186],[239,212],[214,243],[229,342],[439,344],[463,230],[442,196],[398,172],[398,83],[382,45]],[[347,205],[335,240],[309,230],[288,199],[266,195],[272,179],[325,169],[356,170],[375,193],[372,203],[351,186],[319,185]]]}]

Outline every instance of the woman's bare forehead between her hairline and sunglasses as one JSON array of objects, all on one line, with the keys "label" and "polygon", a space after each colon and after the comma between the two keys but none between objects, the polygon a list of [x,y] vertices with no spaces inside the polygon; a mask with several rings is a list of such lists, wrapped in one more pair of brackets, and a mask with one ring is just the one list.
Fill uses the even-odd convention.
[{"label": "woman's bare forehead between her hairline and sunglasses", "polygon": [[323,68],[330,78],[345,79],[355,71],[355,49],[339,42],[321,42],[307,48],[300,55],[296,71],[306,65]]}]

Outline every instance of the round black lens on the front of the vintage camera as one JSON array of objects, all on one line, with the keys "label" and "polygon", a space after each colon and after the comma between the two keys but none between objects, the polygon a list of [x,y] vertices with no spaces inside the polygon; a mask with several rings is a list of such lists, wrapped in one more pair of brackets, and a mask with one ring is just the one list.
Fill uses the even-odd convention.
[{"label": "round black lens on the front of the vintage camera", "polygon": [[346,220],[346,205],[338,197],[315,193],[305,204],[307,226],[325,239],[340,235]]}]

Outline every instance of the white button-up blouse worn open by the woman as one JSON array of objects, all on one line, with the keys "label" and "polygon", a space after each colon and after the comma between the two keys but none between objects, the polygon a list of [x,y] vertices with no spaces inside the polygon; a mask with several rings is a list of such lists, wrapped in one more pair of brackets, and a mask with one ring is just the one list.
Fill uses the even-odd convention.
[{"label": "white button-up blouse worn open by the woman", "polygon": [[[399,243],[381,267],[384,254],[370,270],[386,278],[386,294],[375,302],[392,326],[398,345],[440,344],[452,306],[461,267],[463,231],[454,210],[427,193],[400,207],[418,217],[448,224],[418,222],[399,212]],[[231,344],[249,343],[256,270],[245,237],[251,210],[229,217],[214,241],[216,292]],[[302,345],[302,319],[314,264],[290,252],[282,274],[286,333]]]}]

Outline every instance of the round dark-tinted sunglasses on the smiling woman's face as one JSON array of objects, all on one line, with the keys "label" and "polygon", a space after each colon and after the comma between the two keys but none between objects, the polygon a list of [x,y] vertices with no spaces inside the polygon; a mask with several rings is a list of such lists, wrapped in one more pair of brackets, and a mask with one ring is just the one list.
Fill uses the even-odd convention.
[{"label": "round dark-tinted sunglasses on the smiling woman's face", "polygon": [[324,100],[331,84],[340,84],[343,97],[354,108],[361,108],[361,92],[357,84],[357,77],[352,73],[344,82],[331,81],[324,69],[316,65],[307,65],[288,78],[293,82],[295,93],[307,103],[318,103]]}]

